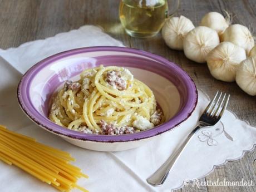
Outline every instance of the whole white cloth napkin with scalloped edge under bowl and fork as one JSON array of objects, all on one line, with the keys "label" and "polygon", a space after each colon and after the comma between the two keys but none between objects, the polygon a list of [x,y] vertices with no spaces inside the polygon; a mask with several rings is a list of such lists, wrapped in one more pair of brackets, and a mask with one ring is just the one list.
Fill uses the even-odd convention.
[{"label": "whole white cloth napkin with scalloped edge under bowl and fork", "polygon": [[[21,73],[54,53],[71,48],[101,45],[122,46],[122,43],[106,35],[98,27],[83,26],[46,40],[0,50],[0,124],[35,137],[44,144],[70,152],[76,158],[73,164],[90,176],[89,179],[79,180],[79,184],[90,191],[100,192],[171,191],[181,188],[184,180],[201,178],[209,174],[215,165],[239,159],[243,156],[243,151],[253,149],[256,144],[255,127],[227,111],[221,119],[222,124],[196,133],[163,186],[154,188],[146,183],[146,178],[177,149],[196,124],[209,101],[208,96],[201,91],[194,114],[184,124],[156,137],[144,146],[128,151],[97,152],[81,149],[33,124],[19,109],[16,99],[16,88]],[[0,170],[1,191],[56,191],[15,166],[0,162]]]}]

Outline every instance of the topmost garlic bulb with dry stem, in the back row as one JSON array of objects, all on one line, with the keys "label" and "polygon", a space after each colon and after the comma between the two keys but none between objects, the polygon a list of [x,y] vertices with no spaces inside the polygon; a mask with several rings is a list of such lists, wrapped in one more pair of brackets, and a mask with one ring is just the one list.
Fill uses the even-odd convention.
[{"label": "topmost garlic bulb with dry stem, in the back row", "polygon": [[230,17],[227,13],[227,18],[224,18],[222,14],[218,12],[209,12],[201,19],[200,26],[210,27],[218,32],[221,36],[225,29],[228,28],[230,24]]}]

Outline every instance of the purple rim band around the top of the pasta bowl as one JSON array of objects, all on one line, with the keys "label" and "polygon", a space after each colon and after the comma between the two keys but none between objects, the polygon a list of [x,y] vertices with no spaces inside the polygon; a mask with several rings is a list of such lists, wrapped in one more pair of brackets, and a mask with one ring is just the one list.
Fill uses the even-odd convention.
[{"label": "purple rim band around the top of the pasta bowl", "polygon": [[[183,78],[185,86],[188,88],[188,100],[186,101],[183,109],[176,114],[174,118],[170,119],[169,121],[161,124],[154,129],[149,129],[145,131],[141,131],[135,134],[124,134],[124,135],[96,135],[96,134],[85,134],[78,131],[73,131],[66,129],[60,125],[55,124],[54,122],[47,119],[45,116],[41,115],[35,107],[33,107],[31,101],[28,99],[28,87],[27,84],[30,83],[31,78],[33,78],[38,71],[42,68],[51,65],[52,62],[60,60],[62,58],[76,55],[79,53],[85,52],[95,52],[95,51],[117,51],[117,52],[127,52],[127,53],[134,53],[137,55],[141,55],[144,57],[151,58],[156,60],[157,62],[164,63],[166,67],[175,69],[176,72],[179,73],[181,78]],[[159,55],[155,55],[154,53],[150,53],[143,50],[138,50],[135,48],[128,48],[128,47],[116,47],[116,46],[95,46],[95,47],[82,47],[76,48],[68,51],[63,51],[47,57],[40,62],[37,62],[33,65],[29,70],[24,73],[21,80],[19,81],[17,87],[17,98],[19,106],[21,107],[22,111],[35,122],[37,125],[46,129],[47,131],[52,132],[53,134],[57,134],[59,136],[70,137],[71,139],[78,139],[78,140],[86,140],[86,141],[96,141],[96,142],[126,142],[126,141],[135,141],[146,139],[149,137],[153,137],[163,132],[169,131],[174,127],[180,125],[184,122],[188,117],[191,116],[195,107],[198,103],[198,91],[195,86],[194,81],[192,78],[186,73],[181,67],[176,65],[174,62],[171,62],[164,57]]]}]

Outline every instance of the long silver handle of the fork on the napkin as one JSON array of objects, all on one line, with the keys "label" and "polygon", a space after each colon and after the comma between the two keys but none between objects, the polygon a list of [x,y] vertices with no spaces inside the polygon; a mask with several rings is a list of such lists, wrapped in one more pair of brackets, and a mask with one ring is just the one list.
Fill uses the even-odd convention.
[{"label": "long silver handle of the fork on the napkin", "polygon": [[155,171],[149,178],[147,178],[147,183],[152,186],[161,186],[163,185],[165,179],[173,168],[176,160],[178,160],[181,152],[184,150],[185,146],[188,144],[189,140],[193,137],[196,131],[201,128],[200,125],[197,125],[190,134],[186,137],[183,143],[180,145],[179,149],[175,151],[174,155],[171,155],[168,160],[165,161],[163,165],[160,166],[159,169]]}]

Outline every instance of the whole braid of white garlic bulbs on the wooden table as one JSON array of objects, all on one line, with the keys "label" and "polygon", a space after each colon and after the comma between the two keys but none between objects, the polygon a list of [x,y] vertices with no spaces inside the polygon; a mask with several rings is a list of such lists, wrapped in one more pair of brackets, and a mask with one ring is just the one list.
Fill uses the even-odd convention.
[{"label": "whole braid of white garlic bulbs on the wooden table", "polygon": [[249,95],[256,95],[254,37],[247,27],[230,25],[231,20],[228,13],[224,18],[218,12],[210,12],[195,27],[184,16],[171,17],[165,22],[162,35],[170,48],[184,50],[185,56],[195,62],[207,62],[214,78],[236,81]]}]

